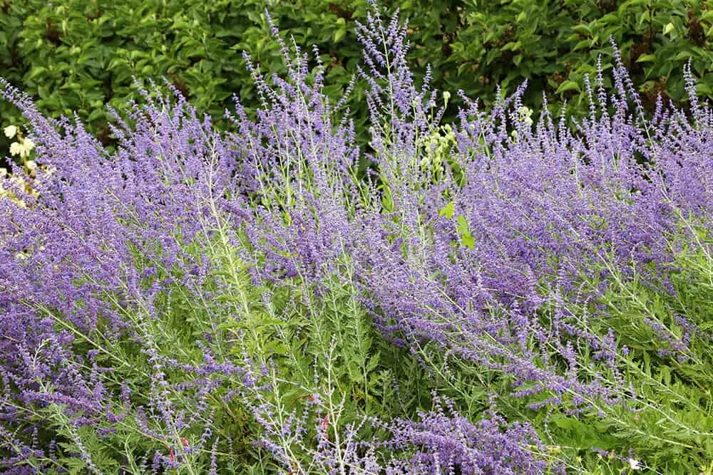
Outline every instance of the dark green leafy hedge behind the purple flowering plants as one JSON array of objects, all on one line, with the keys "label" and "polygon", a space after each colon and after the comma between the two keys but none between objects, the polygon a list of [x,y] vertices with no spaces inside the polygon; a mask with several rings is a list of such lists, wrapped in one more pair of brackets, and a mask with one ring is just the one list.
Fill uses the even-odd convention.
[{"label": "dark green leafy hedge behind the purple flowering plants", "polygon": [[[496,85],[512,92],[529,78],[529,105],[537,107],[543,91],[550,103],[581,105],[583,75],[595,73],[600,53],[608,66],[610,36],[648,102],[660,92],[685,100],[682,66],[689,60],[699,93],[712,93],[713,10],[705,0],[381,3],[410,19],[411,56],[434,67],[436,87],[462,89],[486,103],[495,99]],[[167,78],[199,110],[220,116],[232,93],[256,103],[242,50],[264,70],[284,70],[264,9],[297,44],[319,48],[329,93],[339,95],[360,61],[354,21],[364,18],[366,0],[0,0],[0,75],[38,98],[47,113],[76,110],[106,142],[102,106],[122,108],[135,97],[133,75]],[[357,88],[351,105],[365,120],[363,94]],[[6,104],[0,114],[3,126],[19,120]]]}]

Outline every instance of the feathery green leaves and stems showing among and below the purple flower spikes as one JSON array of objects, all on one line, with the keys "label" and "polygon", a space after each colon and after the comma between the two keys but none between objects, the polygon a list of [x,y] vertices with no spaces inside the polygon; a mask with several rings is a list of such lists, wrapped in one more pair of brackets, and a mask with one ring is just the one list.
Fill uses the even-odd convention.
[{"label": "feathery green leaves and stems showing among and below the purple flower spikes", "polygon": [[[155,297],[152,306],[158,313],[154,315],[148,313],[145,301],[120,303],[114,296],[106,296],[133,323],[143,345],[155,348],[160,357],[198,365],[204,356],[196,340],[210,333],[215,353],[234,348],[231,360],[270,367],[270,392],[256,401],[256,406],[273,404],[279,409],[275,417],[282,417],[309,410],[304,401],[314,398],[315,404],[321,404],[322,414],[329,414],[322,420],[329,424],[331,434],[337,434],[337,427],[345,424],[358,424],[364,414],[381,419],[414,417],[419,409],[429,408],[431,393],[437,392],[469,419],[478,419],[494,405],[508,419],[533,423],[546,443],[548,453],[543,455],[565,464],[572,473],[711,473],[713,256],[709,249],[713,239],[702,230],[703,224],[690,223],[681,216],[679,235],[670,239],[671,249],[677,249],[677,259],[670,265],[621,271],[602,259],[593,263],[602,272],[592,275],[607,275],[606,286],[597,278],[582,276],[582,286],[588,291],[605,289],[599,298],[582,302],[575,296],[563,296],[565,311],[578,324],[589,325],[591,333],[606,335],[611,328],[620,335],[617,345],[629,351],[617,353],[617,366],[636,397],[629,398],[627,407],[602,404],[595,406],[598,411],[573,414],[551,409],[545,413],[529,409],[525,401],[513,397],[507,377],[443,353],[434,343],[413,341],[415,351],[410,354],[386,342],[359,302],[354,265],[346,255],[334,263],[337,271],[319,284],[319,293],[309,278],[299,275],[256,286],[250,281],[249,267],[239,257],[247,240],[226,219],[220,219],[214,197],[201,199],[217,224],[201,223],[201,236],[185,247],[192,259],[211,263],[210,278],[202,287],[187,288],[179,284],[181,276],[174,276],[175,284]],[[461,244],[468,246],[468,223],[453,202],[439,214],[453,221]],[[180,234],[175,238],[181,240]],[[134,252],[139,269],[158,267],[155,275],[142,282],[146,288],[177,272],[144,259],[138,249]],[[647,278],[640,278],[642,273]],[[91,278],[87,276],[88,283]],[[147,473],[140,466],[155,452],[166,456],[169,450],[198,444],[200,424],[183,430],[181,437],[171,432],[171,424],[165,420],[152,421],[147,431],[133,410],[166,400],[171,407],[192,413],[195,408],[187,402],[187,390],[173,386],[190,380],[190,372],[173,370],[166,375],[169,389],[159,393],[153,381],[153,363],[138,343],[111,338],[111,332],[85,335],[62,315],[39,310],[53,318],[58,328],[76,335],[78,353],[93,350],[98,365],[113,368],[106,375],[106,387],[116,398],[116,407],[125,412],[118,423],[78,428],[56,404],[19,407],[36,421],[46,422],[38,437],[56,440],[58,459],[53,463],[68,473],[88,473],[91,461],[103,473],[129,470],[140,474]],[[547,311],[543,310],[543,317]],[[697,330],[687,333],[684,322],[694,323]],[[671,340],[662,338],[663,333]],[[686,345],[675,347],[672,342]],[[584,358],[581,371],[587,371],[588,362],[597,364],[595,358],[587,361],[588,355],[580,356]],[[228,383],[241,385],[237,379]],[[135,407],[125,407],[120,399],[123,387],[130,390]],[[262,433],[253,410],[249,404],[225,402],[220,397],[211,398],[207,409],[202,409],[205,415],[199,422],[210,424],[219,440],[216,451],[230,454],[222,457],[218,473],[277,471],[264,449],[250,443]],[[111,432],[99,437],[104,429]],[[206,473],[211,450],[205,447],[190,454],[178,473]],[[305,455],[298,442],[292,451],[297,458]],[[640,460],[646,465],[640,465]]]}]

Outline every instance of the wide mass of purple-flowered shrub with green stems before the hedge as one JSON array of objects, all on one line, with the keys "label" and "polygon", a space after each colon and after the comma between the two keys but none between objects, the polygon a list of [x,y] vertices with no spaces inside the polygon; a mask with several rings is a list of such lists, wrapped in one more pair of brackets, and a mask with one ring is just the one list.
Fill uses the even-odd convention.
[{"label": "wide mass of purple-flowered shrub with green stems before the hedge", "polygon": [[357,36],[369,152],[281,40],[254,120],[145,91],[116,152],[2,84],[4,471],[713,469],[707,106],[647,118],[615,56],[577,132],[524,85],[441,127],[398,17]]}]

